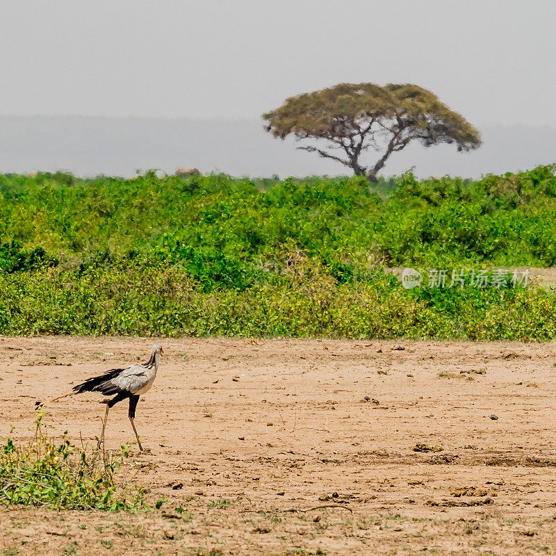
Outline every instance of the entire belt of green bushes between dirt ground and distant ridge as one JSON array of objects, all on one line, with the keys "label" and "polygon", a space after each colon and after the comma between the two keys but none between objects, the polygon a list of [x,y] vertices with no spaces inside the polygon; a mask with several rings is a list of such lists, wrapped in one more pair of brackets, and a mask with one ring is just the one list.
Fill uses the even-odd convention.
[{"label": "entire belt of green bushes between dirt ground and distant ridge", "polygon": [[556,265],[554,170],[0,175],[0,334],[554,339],[550,291],[405,291],[384,272]]}]

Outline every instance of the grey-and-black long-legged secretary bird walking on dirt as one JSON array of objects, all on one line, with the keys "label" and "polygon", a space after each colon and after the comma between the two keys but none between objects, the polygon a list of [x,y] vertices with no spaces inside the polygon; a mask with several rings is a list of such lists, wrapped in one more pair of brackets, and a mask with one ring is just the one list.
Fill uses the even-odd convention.
[{"label": "grey-and-black long-legged secretary bird walking on dirt", "polygon": [[[104,420],[102,422],[102,434],[101,439],[98,443],[98,448],[100,448],[101,443],[104,441],[104,429],[106,428],[106,420],[108,420],[108,410],[121,402],[129,398],[129,420],[131,421],[131,427],[133,427],[133,432],[137,439],[139,445],[139,450],[142,452],[143,447],[141,441],[139,440],[139,435],[137,434],[137,429],[133,419],[135,418],[135,410],[139,402],[139,396],[148,392],[156,378],[156,370],[158,370],[158,365],[161,362],[161,356],[164,354],[164,350],[158,344],[153,345],[151,350],[151,357],[146,363],[141,365],[130,365],[126,368],[121,369],[109,369],[104,373],[104,375],[99,375],[97,377],[91,377],[85,380],[81,384],[74,386],[69,394],[60,396],[59,398],[54,398],[54,400],[60,400],[61,398],[67,398],[67,396],[80,394],[82,392],[100,392],[102,395],[114,395],[111,400],[102,400],[100,403],[106,404],[106,414],[104,414]],[[36,408],[42,407],[42,402],[35,403]]]}]

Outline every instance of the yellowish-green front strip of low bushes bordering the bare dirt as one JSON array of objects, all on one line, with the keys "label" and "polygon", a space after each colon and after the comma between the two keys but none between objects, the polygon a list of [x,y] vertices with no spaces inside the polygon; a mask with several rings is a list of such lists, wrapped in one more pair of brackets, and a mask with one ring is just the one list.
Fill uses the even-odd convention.
[{"label": "yellowish-green front strip of low bushes bordering the bare dirt", "polygon": [[382,270],[338,283],[302,261],[244,291],[204,291],[183,268],[0,273],[0,334],[329,336],[556,339],[556,299],[543,289],[406,291]]}]

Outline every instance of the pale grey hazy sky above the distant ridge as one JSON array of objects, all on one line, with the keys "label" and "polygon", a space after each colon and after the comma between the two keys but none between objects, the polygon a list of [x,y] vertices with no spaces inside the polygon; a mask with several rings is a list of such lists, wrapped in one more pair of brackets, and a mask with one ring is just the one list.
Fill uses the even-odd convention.
[{"label": "pale grey hazy sky above the distant ridge", "polygon": [[556,126],[554,0],[0,1],[0,114],[247,117],[341,81]]}]

